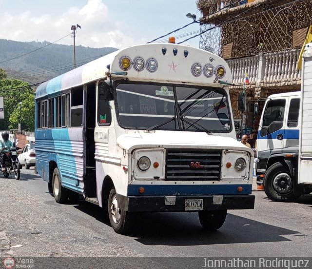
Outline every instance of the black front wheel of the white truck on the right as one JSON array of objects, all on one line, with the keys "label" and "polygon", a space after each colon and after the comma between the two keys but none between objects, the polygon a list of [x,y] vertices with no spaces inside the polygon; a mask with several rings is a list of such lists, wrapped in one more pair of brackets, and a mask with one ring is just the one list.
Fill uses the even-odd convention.
[{"label": "black front wheel of the white truck on the right", "polygon": [[289,169],[281,163],[273,164],[266,171],[263,189],[272,201],[291,201],[299,197],[293,194],[293,178]]}]

